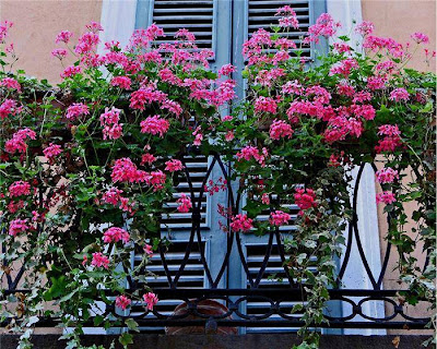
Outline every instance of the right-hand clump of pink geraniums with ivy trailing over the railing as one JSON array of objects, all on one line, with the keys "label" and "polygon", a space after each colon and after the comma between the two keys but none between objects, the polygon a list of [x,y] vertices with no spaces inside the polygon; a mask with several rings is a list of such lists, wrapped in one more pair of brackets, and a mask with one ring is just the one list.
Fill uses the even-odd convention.
[{"label": "right-hand clump of pink geraniums with ivy trailing over the railing", "polygon": [[[295,12],[284,7],[276,15],[279,26],[261,28],[244,44],[246,98],[224,123],[222,137],[229,152],[240,148],[237,176],[256,193],[244,207],[247,219],[251,222],[267,207],[272,212],[269,222],[253,221],[255,229],[262,233],[287,224],[284,207],[291,203],[300,208],[298,232],[287,243],[288,265],[307,293],[307,326],[300,333],[308,346],[318,346],[318,336],[307,328],[326,321],[334,258],[341,254],[345,221],[354,219],[349,200],[353,166],[379,168],[376,202],[391,217],[386,239],[397,246],[401,280],[412,290],[406,301],[435,297],[436,75],[405,68],[412,52],[428,43],[422,33],[402,45],[374,36],[373,24],[363,22],[354,27],[362,51],[349,36],[336,35],[340,23],[322,14],[296,47],[286,36],[298,29]],[[305,57],[306,45],[323,41],[327,53]],[[435,52],[425,49],[426,60],[432,57]],[[405,213],[409,202],[416,205],[412,217]],[[429,257],[423,273],[417,262],[422,243]],[[303,309],[297,304],[293,311]]]}]

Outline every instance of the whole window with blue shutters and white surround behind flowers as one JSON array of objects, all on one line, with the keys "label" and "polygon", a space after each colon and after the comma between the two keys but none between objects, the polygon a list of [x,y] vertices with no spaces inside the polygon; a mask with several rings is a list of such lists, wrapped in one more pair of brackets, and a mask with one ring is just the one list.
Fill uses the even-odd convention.
[{"label": "whole window with blue shutters and white surround behind flowers", "polygon": [[[291,31],[287,34],[296,44],[302,39],[302,36],[307,34],[306,29],[308,26],[314,24],[317,17],[323,12],[329,12],[339,20],[342,19],[344,23],[351,22],[352,24],[352,20],[361,20],[361,2],[351,2],[347,0],[335,2],[329,0],[104,0],[102,22],[105,28],[109,29],[103,33],[105,35],[103,40],[106,38],[107,40],[117,38],[120,40],[121,45],[126,45],[134,28],[144,28],[152,23],[156,23],[158,26],[163,27],[167,34],[167,37],[162,40],[162,43],[164,43],[165,40],[172,40],[173,34],[178,28],[185,27],[196,35],[200,48],[213,50],[214,59],[211,60],[212,69],[216,69],[225,63],[233,63],[237,67],[238,71],[241,71],[245,67],[241,55],[243,43],[258,28],[268,28],[270,24],[275,21],[275,10],[285,4],[292,5],[302,25],[300,32]],[[107,25],[105,25],[105,22],[107,22]],[[344,31],[350,32],[350,28],[344,28]],[[323,51],[327,43],[322,43],[318,47],[309,47],[305,50],[304,55],[310,59],[315,59],[315,51]],[[241,97],[244,94],[244,82],[239,74],[236,74],[236,80],[238,86],[237,94]],[[186,163],[194,191],[199,195],[212,159],[205,157],[186,158]],[[367,186],[362,189],[363,193],[361,195],[363,207],[366,207],[366,200],[373,197],[371,195],[375,192],[375,188],[371,183],[373,173],[367,172],[369,171],[365,171],[364,177],[366,178]],[[215,166],[208,179],[215,182],[218,181],[221,177],[223,177],[222,169]],[[174,198],[177,200],[178,195],[187,193],[188,186],[188,182],[181,180],[176,188]],[[226,254],[228,237],[221,231],[217,225],[217,221],[223,218],[218,215],[216,207],[217,204],[226,206],[226,201],[227,196],[225,192],[220,192],[212,196],[208,194],[203,195],[199,207],[201,215],[201,243],[194,243],[192,245],[194,250],[190,254],[184,275],[178,279],[178,287],[209,288],[212,286],[213,282],[211,282],[211,278],[206,275],[208,273],[204,270],[201,263],[202,255],[208,260],[208,264],[211,266],[210,274],[212,279],[221,272],[222,262]],[[172,208],[175,206],[175,202],[170,201],[166,205]],[[295,207],[291,208],[292,210],[295,209]],[[376,215],[374,217],[376,219]],[[163,226],[162,236],[168,238],[173,242],[166,253],[168,269],[173,277],[175,277],[179,269],[186,246],[190,243],[190,214],[169,214],[163,218],[163,222],[165,222],[166,226]],[[265,219],[267,216],[261,215],[258,218]],[[365,224],[366,227],[370,225],[368,220],[362,221],[361,224]],[[377,224],[371,224],[374,225],[374,231]],[[282,237],[293,233],[293,225],[284,227]],[[361,229],[361,231],[366,231],[366,229]],[[259,275],[259,270],[263,268],[262,264],[267,252],[265,245],[269,239],[273,239],[272,250],[263,274]],[[375,249],[376,245],[379,245],[378,239],[379,236],[376,228],[376,236],[369,239],[368,242],[365,242],[369,244],[369,253],[378,254],[378,257],[371,258],[375,261],[375,266],[371,266],[373,268],[375,267],[375,269],[380,265],[379,249]],[[249,233],[240,237],[240,244],[247,260],[247,269],[245,270],[245,267],[241,265],[237,246],[234,243],[228,263],[232,267],[226,268],[223,277],[220,278],[220,282],[214,286],[218,288],[250,288],[253,282],[257,282],[260,288],[272,285],[281,287],[281,282],[277,279],[286,277],[279,254],[281,239],[276,236],[256,237]],[[165,287],[168,285],[168,280],[164,275],[164,266],[161,264],[161,257],[156,255],[152,262],[149,268],[157,275],[157,278],[150,278],[147,281],[152,287]],[[135,257],[133,257],[132,263],[135,263]],[[363,284],[363,278],[361,277],[364,275],[362,273],[363,266],[359,261],[355,264],[354,270],[350,270],[351,279],[347,281],[350,282],[347,286],[350,288],[365,288],[366,285],[364,285],[365,282]],[[247,277],[247,273],[249,274],[249,278]],[[249,280],[250,278],[251,280]],[[163,312],[170,314],[178,302],[179,301],[173,302],[172,300],[166,300],[158,305]],[[269,304],[262,300],[252,300],[250,302],[241,302],[239,306],[243,313],[256,315],[265,313],[265,309]],[[132,309],[132,311],[134,310]],[[336,314],[341,314],[342,312],[340,306],[332,306],[329,311]],[[370,312],[373,312],[373,310],[366,313]],[[377,310],[376,313],[378,312]],[[244,333],[259,333],[263,330],[265,329],[243,329]],[[273,329],[270,327],[269,332],[271,330],[283,332],[294,329]],[[327,332],[332,334],[341,333],[341,330],[334,329],[328,329]],[[376,332],[366,330],[366,334],[376,334]]]}]

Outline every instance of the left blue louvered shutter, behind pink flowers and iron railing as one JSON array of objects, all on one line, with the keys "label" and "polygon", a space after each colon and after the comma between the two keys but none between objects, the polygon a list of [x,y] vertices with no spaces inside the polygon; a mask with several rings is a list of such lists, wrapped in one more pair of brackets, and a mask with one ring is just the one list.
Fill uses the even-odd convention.
[{"label": "left blue louvered shutter, behind pink flowers and iron railing", "polygon": [[[174,34],[179,28],[187,28],[194,34],[200,49],[211,49],[214,58],[210,60],[213,71],[217,67],[231,62],[231,0],[146,0],[138,2],[135,28],[145,28],[152,23],[162,27],[166,37],[160,38],[156,44],[174,41]],[[224,110],[226,111],[226,110]],[[194,197],[200,196],[202,182],[206,176],[212,157],[197,156],[185,157],[185,164],[189,171]],[[213,168],[208,180],[216,182],[223,177],[217,166]],[[191,234],[191,212],[175,213],[176,201],[182,193],[190,196],[190,184],[186,178],[180,177],[179,184],[175,188],[173,200],[165,203],[165,214],[162,219],[162,237],[167,238],[172,243],[165,253],[169,273],[175,276],[185,257],[187,244]],[[202,242],[199,245],[197,238],[191,246],[191,253],[187,266],[180,276],[178,288],[210,288],[211,282],[201,261],[201,252],[204,254],[212,277],[218,274],[220,266],[226,253],[226,234],[220,230],[220,220],[216,207],[217,204],[226,205],[226,193],[220,192],[215,195],[204,193],[201,196],[201,236]],[[193,203],[194,205],[194,203]],[[202,251],[200,251],[202,250]],[[133,256],[133,263],[140,263],[141,256]],[[162,264],[161,256],[156,253],[147,270],[154,276],[147,276],[146,281],[153,288],[168,287],[168,280]],[[226,275],[217,285],[226,287]],[[170,314],[180,304],[180,300],[160,301],[156,309],[160,313]],[[138,304],[140,311],[141,304]],[[132,306],[132,313],[135,308]],[[153,316],[152,314],[147,316]],[[146,328],[143,328],[143,330]],[[152,330],[152,328],[151,328]],[[153,328],[156,330],[156,328]]]}]

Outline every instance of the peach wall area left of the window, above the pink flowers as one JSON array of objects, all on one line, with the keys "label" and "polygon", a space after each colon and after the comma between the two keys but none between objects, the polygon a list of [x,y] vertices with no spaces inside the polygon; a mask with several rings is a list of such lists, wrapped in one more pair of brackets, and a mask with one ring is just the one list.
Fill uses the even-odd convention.
[{"label": "peach wall area left of the window, above the pink flowers", "polygon": [[[91,21],[99,22],[102,0],[0,0],[0,19],[14,23],[10,38],[19,57],[16,65],[28,75],[60,81],[62,67],[50,55],[60,45],[56,35],[69,29],[75,37]],[[72,58],[67,60],[70,64]]]}]

